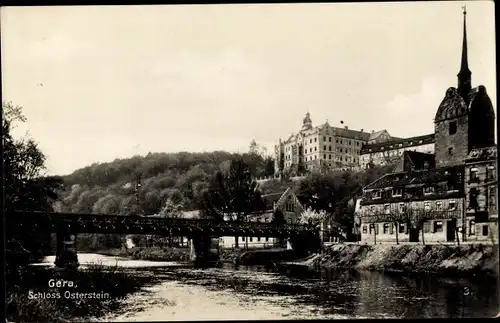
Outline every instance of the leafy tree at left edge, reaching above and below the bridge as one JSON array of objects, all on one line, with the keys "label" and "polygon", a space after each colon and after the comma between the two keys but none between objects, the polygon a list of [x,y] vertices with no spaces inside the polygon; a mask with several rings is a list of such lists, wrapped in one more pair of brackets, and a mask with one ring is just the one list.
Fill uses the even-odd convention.
[{"label": "leafy tree at left edge, reaching above and below the bridge", "polygon": [[[28,136],[15,139],[12,130],[25,122],[22,108],[11,102],[2,102],[4,211],[8,218],[12,211],[53,211],[52,204],[62,190],[63,181],[57,176],[45,175],[45,155]],[[39,258],[50,251],[50,233],[35,227],[23,232],[7,230],[6,265],[8,272],[17,265]]]}]

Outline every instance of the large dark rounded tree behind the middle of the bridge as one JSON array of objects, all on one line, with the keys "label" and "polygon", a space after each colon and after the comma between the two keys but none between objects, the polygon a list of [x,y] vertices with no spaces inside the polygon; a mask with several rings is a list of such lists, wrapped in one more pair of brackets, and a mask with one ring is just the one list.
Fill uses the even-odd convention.
[{"label": "large dark rounded tree behind the middle of the bridge", "polygon": [[[243,160],[233,160],[227,174],[217,172],[203,196],[201,208],[205,216],[214,220],[234,222],[246,221],[248,214],[264,209],[257,183]],[[238,247],[238,236],[235,239]]]}]

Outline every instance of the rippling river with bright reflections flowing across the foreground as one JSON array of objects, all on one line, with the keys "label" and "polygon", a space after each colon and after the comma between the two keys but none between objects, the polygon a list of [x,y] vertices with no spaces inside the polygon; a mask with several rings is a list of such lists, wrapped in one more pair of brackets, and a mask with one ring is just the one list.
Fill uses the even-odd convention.
[{"label": "rippling river with bright reflections flowing across the foreground", "polygon": [[[291,277],[262,267],[194,269],[173,262],[79,254],[150,275],[159,283],[126,297],[119,313],[97,321],[476,318],[498,313],[496,280],[333,272]],[[51,265],[47,257],[40,265]]]}]

